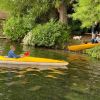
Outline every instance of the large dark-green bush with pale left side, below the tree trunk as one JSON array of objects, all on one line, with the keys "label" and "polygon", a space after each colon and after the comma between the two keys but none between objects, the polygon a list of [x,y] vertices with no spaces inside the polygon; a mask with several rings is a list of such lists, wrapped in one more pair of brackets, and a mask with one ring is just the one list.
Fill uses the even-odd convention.
[{"label": "large dark-green bush with pale left side, below the tree trunk", "polygon": [[37,25],[23,39],[23,43],[33,46],[62,47],[69,38],[68,29],[59,22],[50,21]]}]

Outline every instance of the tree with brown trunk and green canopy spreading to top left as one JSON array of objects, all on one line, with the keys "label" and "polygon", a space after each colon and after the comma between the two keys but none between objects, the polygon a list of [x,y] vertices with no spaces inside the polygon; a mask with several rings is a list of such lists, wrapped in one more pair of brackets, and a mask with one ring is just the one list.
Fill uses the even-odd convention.
[{"label": "tree with brown trunk and green canopy spreading to top left", "polygon": [[73,0],[0,0],[0,7],[14,16],[32,14],[35,18],[54,7],[59,13],[59,21],[67,23],[67,8],[71,1]]}]

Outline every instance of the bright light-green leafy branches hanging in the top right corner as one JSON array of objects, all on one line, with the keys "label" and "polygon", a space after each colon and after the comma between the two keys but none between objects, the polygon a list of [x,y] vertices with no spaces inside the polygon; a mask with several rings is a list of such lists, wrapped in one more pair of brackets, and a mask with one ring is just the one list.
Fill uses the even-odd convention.
[{"label": "bright light-green leafy branches hanging in the top right corner", "polygon": [[100,21],[100,0],[77,0],[73,18],[82,22],[82,27],[90,27]]}]

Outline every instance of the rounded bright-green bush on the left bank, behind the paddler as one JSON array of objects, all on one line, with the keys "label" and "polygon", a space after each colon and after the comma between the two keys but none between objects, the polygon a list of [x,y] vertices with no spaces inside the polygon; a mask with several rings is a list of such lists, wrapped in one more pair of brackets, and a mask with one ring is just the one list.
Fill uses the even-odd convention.
[{"label": "rounded bright-green bush on the left bank, behind the paddler", "polygon": [[20,17],[11,17],[4,24],[4,35],[13,41],[21,41],[30,30],[27,21]]}]

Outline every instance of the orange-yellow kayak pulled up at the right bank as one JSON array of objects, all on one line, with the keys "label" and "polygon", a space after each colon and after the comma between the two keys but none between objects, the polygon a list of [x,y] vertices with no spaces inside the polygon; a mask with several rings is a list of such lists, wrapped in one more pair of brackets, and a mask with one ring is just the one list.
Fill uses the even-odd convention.
[{"label": "orange-yellow kayak pulled up at the right bank", "polygon": [[73,46],[68,46],[68,50],[70,50],[70,51],[80,51],[80,50],[95,47],[97,45],[100,45],[100,43],[95,43],[95,44],[88,43],[88,44],[73,45]]}]

